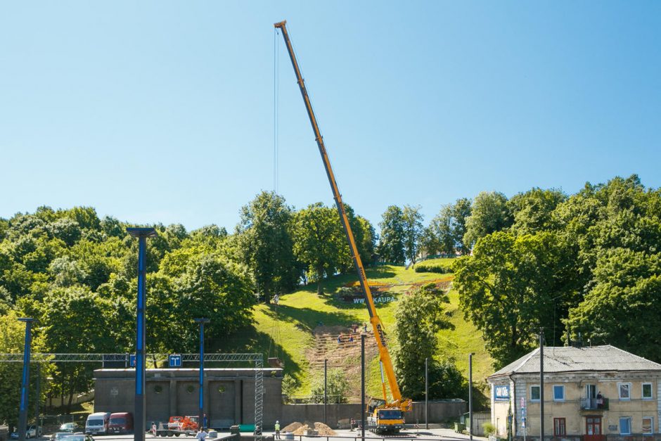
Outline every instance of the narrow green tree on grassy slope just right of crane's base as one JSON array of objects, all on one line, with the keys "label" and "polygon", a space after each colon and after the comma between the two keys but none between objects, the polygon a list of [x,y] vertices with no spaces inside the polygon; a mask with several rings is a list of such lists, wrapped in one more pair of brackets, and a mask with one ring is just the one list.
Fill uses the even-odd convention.
[{"label": "narrow green tree on grassy slope just right of crane's base", "polygon": [[[424,397],[425,358],[434,359],[438,349],[438,331],[452,327],[443,312],[447,303],[447,294],[430,283],[404,296],[397,305],[394,337],[398,348],[394,352],[394,364],[402,395],[413,400]],[[433,366],[439,368],[434,372],[440,373],[441,364]],[[439,379],[437,384],[440,383],[442,381]]]}]

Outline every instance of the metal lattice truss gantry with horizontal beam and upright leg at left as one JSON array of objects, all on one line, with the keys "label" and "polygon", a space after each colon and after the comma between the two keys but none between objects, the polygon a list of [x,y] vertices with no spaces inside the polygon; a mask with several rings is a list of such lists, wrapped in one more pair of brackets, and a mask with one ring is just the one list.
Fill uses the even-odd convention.
[{"label": "metal lattice truss gantry with horizontal beam and upright leg at left", "polygon": [[[145,354],[154,362],[167,362],[170,354]],[[180,354],[182,362],[200,362],[200,354]],[[130,354],[35,354],[32,363],[103,363],[125,362]],[[205,362],[249,362],[255,364],[255,441],[262,440],[262,420],[264,419],[264,357],[262,354],[204,354]],[[0,363],[23,362],[23,354],[0,354]]]}]

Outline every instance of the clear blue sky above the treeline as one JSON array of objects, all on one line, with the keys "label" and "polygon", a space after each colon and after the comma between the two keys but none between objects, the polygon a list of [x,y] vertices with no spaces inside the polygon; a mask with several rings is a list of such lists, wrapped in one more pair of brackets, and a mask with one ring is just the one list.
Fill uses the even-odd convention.
[{"label": "clear blue sky above the treeline", "polygon": [[[375,226],[483,190],[661,186],[659,1],[8,1],[0,217],[233,229],[273,188],[283,19],[345,201]],[[330,204],[283,44],[279,72],[279,191]]]}]

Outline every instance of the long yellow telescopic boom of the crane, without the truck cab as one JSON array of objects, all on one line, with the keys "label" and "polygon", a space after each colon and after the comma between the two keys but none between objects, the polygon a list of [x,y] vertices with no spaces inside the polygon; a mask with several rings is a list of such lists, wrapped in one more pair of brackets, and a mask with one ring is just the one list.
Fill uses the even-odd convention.
[{"label": "long yellow telescopic boom of the crane, without the truck cab", "polygon": [[408,411],[411,407],[411,400],[402,400],[402,393],[399,392],[399,386],[397,385],[397,379],[394,377],[394,369],[392,369],[392,360],[390,359],[390,353],[388,352],[387,345],[385,342],[385,335],[383,332],[383,324],[381,319],[376,313],[376,308],[374,307],[374,300],[372,298],[372,293],[367,282],[367,276],[365,274],[365,269],[363,267],[363,262],[360,260],[360,255],[358,254],[358,248],[356,246],[356,241],[354,239],[354,234],[349,225],[349,219],[347,218],[347,212],[345,211],[345,206],[342,203],[342,196],[340,195],[340,189],[338,188],[338,183],[335,181],[335,175],[333,174],[333,168],[331,167],[331,160],[328,158],[328,152],[326,151],[326,146],[323,145],[323,138],[321,137],[321,131],[319,130],[319,124],[316,122],[316,117],[314,116],[314,110],[312,110],[312,103],[310,102],[310,97],[307,94],[307,89],[305,89],[305,82],[301,75],[300,68],[298,67],[298,61],[294,54],[294,49],[289,39],[289,34],[287,32],[287,27],[285,26],[287,22],[282,21],[280,23],[275,23],[274,26],[281,30],[283,39],[287,46],[287,51],[289,53],[289,58],[291,59],[294,72],[296,74],[296,80],[298,82],[298,87],[300,87],[301,95],[303,96],[303,101],[305,103],[305,110],[307,110],[307,115],[310,118],[310,124],[312,124],[312,130],[314,131],[314,139],[317,146],[319,146],[319,153],[321,153],[321,160],[323,160],[323,167],[326,169],[326,175],[328,176],[328,182],[331,184],[331,190],[333,190],[333,198],[335,199],[335,205],[338,206],[338,212],[340,213],[340,222],[342,222],[342,227],[345,230],[347,236],[347,242],[349,243],[349,251],[351,257],[354,261],[356,270],[358,271],[358,279],[360,286],[363,289],[365,295],[365,303],[367,305],[367,310],[369,312],[370,323],[374,330],[374,337],[376,338],[376,344],[378,345],[380,361],[383,364],[383,369],[385,370],[385,376],[387,377],[388,385],[390,385],[390,393],[392,394],[392,402],[388,402],[387,397],[383,399],[387,402],[386,407],[399,407],[403,411]]}]

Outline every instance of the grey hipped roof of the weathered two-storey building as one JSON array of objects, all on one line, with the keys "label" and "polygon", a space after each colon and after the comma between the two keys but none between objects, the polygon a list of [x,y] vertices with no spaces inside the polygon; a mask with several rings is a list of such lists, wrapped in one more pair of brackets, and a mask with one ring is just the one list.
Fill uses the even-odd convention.
[{"label": "grey hipped roof of the weathered two-storey building", "polygon": [[[661,364],[611,345],[544,347],[545,373],[584,371],[661,371]],[[539,373],[539,347],[489,378],[511,373]]]}]

